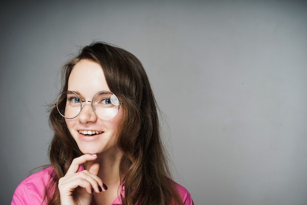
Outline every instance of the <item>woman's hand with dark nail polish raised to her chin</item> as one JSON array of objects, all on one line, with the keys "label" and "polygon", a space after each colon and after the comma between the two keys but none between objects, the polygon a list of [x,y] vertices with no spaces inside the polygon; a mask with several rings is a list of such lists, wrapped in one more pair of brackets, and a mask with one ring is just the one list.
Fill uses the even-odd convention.
[{"label": "woman's hand with dark nail polish raised to her chin", "polygon": [[80,165],[94,161],[97,155],[84,154],[75,158],[66,175],[59,179],[61,205],[90,205],[94,191],[102,192],[102,180],[97,177],[99,164],[94,162],[89,170],[78,172]]}]

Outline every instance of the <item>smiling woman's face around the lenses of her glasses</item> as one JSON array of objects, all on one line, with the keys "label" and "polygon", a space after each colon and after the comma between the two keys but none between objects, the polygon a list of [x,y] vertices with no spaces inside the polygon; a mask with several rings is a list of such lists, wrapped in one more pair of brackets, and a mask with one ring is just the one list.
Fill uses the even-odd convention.
[{"label": "smiling woman's face around the lenses of her glasses", "polygon": [[[102,67],[90,60],[80,60],[68,79],[68,90],[78,94],[82,101],[92,101],[99,91],[110,91]],[[117,152],[117,137],[123,118],[123,107],[115,117],[103,120],[96,116],[89,102],[74,119],[65,119],[67,128],[83,154]],[[92,132],[92,134],[88,134]],[[87,134],[84,134],[86,133]],[[96,134],[98,133],[98,134]]]}]

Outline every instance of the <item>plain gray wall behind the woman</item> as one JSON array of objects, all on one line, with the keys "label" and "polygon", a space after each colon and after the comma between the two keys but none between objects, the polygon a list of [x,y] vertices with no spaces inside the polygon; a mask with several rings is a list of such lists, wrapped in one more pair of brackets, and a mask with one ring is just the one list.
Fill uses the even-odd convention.
[{"label": "plain gray wall behind the woman", "polygon": [[196,205],[307,204],[306,1],[10,1],[0,24],[1,204],[48,163],[58,69],[92,40],[144,64]]}]

